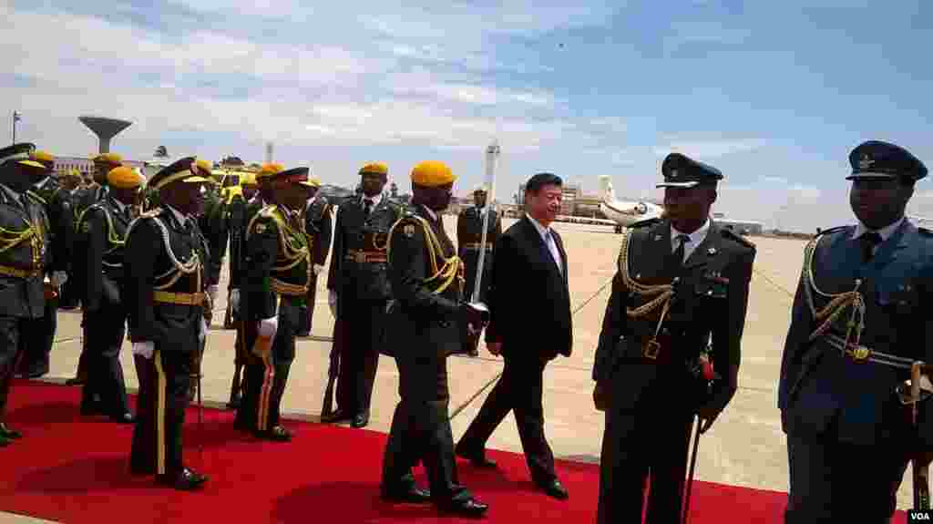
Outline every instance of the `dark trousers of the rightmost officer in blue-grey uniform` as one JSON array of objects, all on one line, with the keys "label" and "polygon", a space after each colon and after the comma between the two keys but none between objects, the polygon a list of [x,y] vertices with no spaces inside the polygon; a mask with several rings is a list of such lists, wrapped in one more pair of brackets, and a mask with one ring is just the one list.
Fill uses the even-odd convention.
[{"label": "dark trousers of the rightmost officer in blue-grey uniform", "polygon": [[787,436],[787,458],[787,524],[890,522],[907,468],[903,447]]}]

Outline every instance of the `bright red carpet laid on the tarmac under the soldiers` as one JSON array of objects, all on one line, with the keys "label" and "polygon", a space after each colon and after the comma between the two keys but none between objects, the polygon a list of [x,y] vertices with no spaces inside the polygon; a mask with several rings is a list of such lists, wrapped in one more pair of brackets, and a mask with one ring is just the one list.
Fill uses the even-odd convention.
[{"label": "bright red carpet laid on the tarmac under the soldiers", "polygon": [[[128,472],[132,426],[78,415],[80,389],[18,380],[8,421],[26,438],[0,449],[0,510],[66,523],[122,522],[452,522],[429,505],[383,503],[379,474],[385,435],[286,422],[290,444],[232,429],[232,412],[205,409],[203,462],[197,411],[188,412],[186,459],[211,476],[200,492],[156,488]],[[521,455],[490,452],[498,471],[460,463],[460,480],[491,508],[486,521],[592,523],[599,468],[560,462],[570,490],[559,502],[533,490]],[[419,482],[425,483],[419,469]],[[781,522],[786,495],[698,482],[691,524]],[[472,521],[466,520],[464,521]],[[901,514],[895,519],[903,522]]]}]

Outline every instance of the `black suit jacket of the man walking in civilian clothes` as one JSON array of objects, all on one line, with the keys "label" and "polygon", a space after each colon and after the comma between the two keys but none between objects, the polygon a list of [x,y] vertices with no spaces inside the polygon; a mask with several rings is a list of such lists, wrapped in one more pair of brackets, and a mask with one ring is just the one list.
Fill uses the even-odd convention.
[{"label": "black suit jacket of the man walking in civilian clothes", "polygon": [[570,356],[573,323],[567,255],[561,236],[557,231],[553,236],[563,274],[527,216],[495,242],[486,342],[502,342],[503,355],[537,355],[544,359],[558,353]]}]

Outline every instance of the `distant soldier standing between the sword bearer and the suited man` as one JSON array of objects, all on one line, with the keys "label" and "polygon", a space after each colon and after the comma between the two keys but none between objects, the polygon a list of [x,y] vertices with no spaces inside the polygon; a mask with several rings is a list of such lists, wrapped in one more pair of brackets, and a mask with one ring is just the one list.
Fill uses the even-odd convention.
[{"label": "distant soldier standing between the sword bearer and the suited man", "polygon": [[[466,286],[464,294],[467,299],[471,297],[473,289],[476,287],[476,270],[480,262],[480,250],[485,249],[486,255],[482,262],[482,280],[480,283],[480,296],[476,299],[480,302],[486,302],[486,295],[489,291],[490,276],[493,268],[493,246],[495,240],[502,234],[502,217],[494,209],[489,210],[489,225],[486,232],[486,244],[482,245],[482,220],[483,208],[486,206],[487,190],[484,186],[478,187],[473,191],[473,201],[475,207],[468,207],[460,212],[457,217],[457,248],[460,258],[464,261],[466,270]],[[480,334],[471,333],[466,324],[461,326],[464,340],[463,352],[470,356],[478,356],[480,351],[477,346],[480,344]]]}]

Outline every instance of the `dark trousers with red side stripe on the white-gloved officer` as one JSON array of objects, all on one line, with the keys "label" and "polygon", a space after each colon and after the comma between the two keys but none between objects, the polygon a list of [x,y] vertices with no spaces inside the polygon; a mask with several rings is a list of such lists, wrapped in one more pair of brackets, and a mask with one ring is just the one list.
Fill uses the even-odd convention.
[{"label": "dark trousers with red side stripe on the white-gloved officer", "polygon": [[[288,372],[295,360],[295,334],[300,309],[294,301],[279,302],[278,328],[272,340],[272,351],[265,358],[250,354],[245,366],[243,399],[237,409],[237,425],[264,432],[272,430],[281,420],[282,396],[288,383]],[[244,323],[247,350],[258,338],[258,323]]]}]

